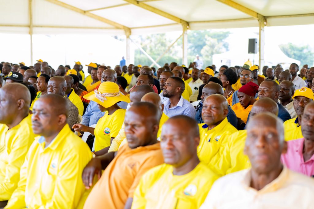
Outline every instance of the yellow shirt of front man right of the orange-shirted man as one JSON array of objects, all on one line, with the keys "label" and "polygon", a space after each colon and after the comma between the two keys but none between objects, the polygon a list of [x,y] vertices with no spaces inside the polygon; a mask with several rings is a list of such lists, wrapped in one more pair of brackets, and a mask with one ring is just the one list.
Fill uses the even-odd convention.
[{"label": "yellow shirt of front man right of the orange-shirted man", "polygon": [[132,209],[199,208],[218,176],[200,162],[185,175],[173,175],[173,166],[147,171],[134,191]]}]

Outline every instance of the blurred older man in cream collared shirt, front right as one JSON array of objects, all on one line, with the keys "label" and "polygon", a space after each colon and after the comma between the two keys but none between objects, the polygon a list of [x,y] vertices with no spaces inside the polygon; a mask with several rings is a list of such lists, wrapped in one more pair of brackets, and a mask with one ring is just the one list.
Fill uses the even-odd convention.
[{"label": "blurred older man in cream collared shirt, front right", "polygon": [[252,117],[245,152],[252,168],[219,178],[200,209],[313,208],[314,181],[283,166],[283,122],[271,113]]}]

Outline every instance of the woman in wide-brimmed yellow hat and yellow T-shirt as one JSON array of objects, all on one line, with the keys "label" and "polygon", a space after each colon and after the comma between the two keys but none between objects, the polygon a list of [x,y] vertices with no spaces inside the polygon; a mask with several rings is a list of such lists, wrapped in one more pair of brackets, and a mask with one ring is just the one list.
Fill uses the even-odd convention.
[{"label": "woman in wide-brimmed yellow hat and yellow T-shirt", "polygon": [[100,111],[105,112],[105,115],[99,119],[95,128],[83,124],[74,124],[72,128],[75,131],[94,133],[95,151],[109,147],[111,140],[118,135],[121,129],[126,111],[120,108],[117,102],[130,103],[130,99],[119,91],[116,83],[110,81],[101,83],[98,90],[95,89],[83,97],[97,102]]}]

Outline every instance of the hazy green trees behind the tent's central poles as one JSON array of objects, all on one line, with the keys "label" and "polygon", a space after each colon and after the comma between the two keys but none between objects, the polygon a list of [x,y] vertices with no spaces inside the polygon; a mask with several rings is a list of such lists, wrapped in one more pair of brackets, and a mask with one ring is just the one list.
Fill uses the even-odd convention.
[{"label": "hazy green trees behind the tent's central poles", "polygon": [[[203,59],[203,67],[212,65],[212,56],[223,53],[228,50],[228,43],[225,39],[229,36],[229,31],[210,30],[189,31],[188,40],[188,63],[193,62],[195,56],[200,55]],[[170,46],[175,39],[169,39],[166,34],[152,34],[147,36],[138,36],[137,43],[145,50],[154,60],[156,60]],[[139,49],[135,50],[135,65],[151,65],[149,60]],[[165,63],[177,62],[182,64],[182,38],[174,44],[173,47],[158,61],[160,66]],[[156,66],[154,66],[156,67]]]}]

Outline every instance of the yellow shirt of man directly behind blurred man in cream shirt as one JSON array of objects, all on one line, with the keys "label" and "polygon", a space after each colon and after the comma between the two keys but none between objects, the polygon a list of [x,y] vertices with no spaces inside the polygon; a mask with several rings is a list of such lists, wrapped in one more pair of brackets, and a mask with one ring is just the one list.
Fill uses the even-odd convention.
[{"label": "yellow shirt of man directly behind blurred man in cream shirt", "polygon": [[241,130],[229,136],[223,153],[219,159],[213,158],[210,165],[216,174],[223,176],[251,167],[250,159],[244,154],[246,133],[246,130]]}]

